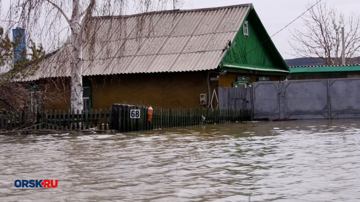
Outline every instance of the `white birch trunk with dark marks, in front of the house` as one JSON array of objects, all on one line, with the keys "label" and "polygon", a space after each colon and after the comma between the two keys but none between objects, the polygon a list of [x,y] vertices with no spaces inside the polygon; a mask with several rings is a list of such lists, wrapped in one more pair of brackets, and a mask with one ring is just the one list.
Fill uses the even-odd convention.
[{"label": "white birch trunk with dark marks, in front of the house", "polygon": [[71,35],[70,43],[73,47],[71,52],[72,62],[71,62],[71,108],[73,110],[81,111],[83,109],[84,103],[82,100],[82,65],[84,61],[82,60],[82,27],[80,22],[80,10],[79,10],[79,0],[72,1],[72,16],[71,16]]}]

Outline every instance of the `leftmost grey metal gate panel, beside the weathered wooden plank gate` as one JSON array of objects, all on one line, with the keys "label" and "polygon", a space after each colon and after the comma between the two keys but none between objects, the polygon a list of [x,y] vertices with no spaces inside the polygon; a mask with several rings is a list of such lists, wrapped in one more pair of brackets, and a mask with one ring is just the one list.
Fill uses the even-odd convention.
[{"label": "leftmost grey metal gate panel, beside the weathered wooden plank gate", "polygon": [[279,119],[279,82],[253,83],[254,119]]}]

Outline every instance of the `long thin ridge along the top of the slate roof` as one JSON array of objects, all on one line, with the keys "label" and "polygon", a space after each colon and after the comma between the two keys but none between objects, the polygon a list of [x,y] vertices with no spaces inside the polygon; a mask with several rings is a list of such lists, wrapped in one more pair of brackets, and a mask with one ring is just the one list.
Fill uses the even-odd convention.
[{"label": "long thin ridge along the top of the slate roof", "polygon": [[93,19],[116,19],[116,18],[131,18],[140,15],[150,15],[150,14],[164,14],[164,13],[184,13],[184,12],[197,12],[197,11],[208,11],[208,10],[221,10],[221,9],[228,9],[228,8],[238,8],[238,7],[246,7],[252,6],[252,3],[249,4],[237,4],[237,5],[229,5],[229,6],[220,6],[220,7],[212,7],[212,8],[198,8],[198,9],[175,9],[175,10],[158,10],[158,11],[151,11],[145,13],[137,13],[131,15],[103,15],[103,16],[93,16]]}]

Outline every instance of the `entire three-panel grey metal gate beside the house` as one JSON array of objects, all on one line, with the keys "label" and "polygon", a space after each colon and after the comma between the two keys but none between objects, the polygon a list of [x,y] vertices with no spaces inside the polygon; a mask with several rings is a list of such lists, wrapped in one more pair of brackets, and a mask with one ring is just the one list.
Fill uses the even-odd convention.
[{"label": "entire three-panel grey metal gate beside the house", "polygon": [[255,119],[360,118],[360,78],[253,83]]}]

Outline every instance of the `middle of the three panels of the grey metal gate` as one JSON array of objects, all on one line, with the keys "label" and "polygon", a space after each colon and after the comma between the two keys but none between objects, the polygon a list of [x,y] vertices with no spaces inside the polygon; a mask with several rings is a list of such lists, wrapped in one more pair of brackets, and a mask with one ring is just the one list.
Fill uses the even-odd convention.
[{"label": "middle of the three panels of the grey metal gate", "polygon": [[285,119],[327,119],[328,106],[328,79],[284,81]]}]

